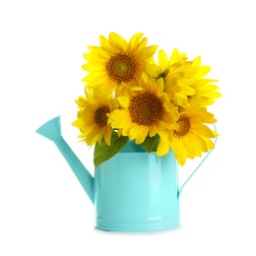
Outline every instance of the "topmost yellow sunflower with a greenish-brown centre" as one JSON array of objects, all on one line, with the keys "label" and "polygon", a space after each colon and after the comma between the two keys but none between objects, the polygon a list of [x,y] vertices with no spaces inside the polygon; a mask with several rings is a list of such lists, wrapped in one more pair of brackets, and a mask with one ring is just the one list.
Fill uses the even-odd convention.
[{"label": "topmost yellow sunflower with a greenish-brown centre", "polygon": [[91,86],[104,84],[114,91],[122,82],[138,83],[143,72],[155,67],[152,61],[158,46],[146,46],[148,39],[141,32],[128,42],[115,32],[110,32],[108,39],[100,35],[99,41],[100,47],[89,46],[91,53],[84,54],[88,63],[83,69],[89,75],[83,81]]}]

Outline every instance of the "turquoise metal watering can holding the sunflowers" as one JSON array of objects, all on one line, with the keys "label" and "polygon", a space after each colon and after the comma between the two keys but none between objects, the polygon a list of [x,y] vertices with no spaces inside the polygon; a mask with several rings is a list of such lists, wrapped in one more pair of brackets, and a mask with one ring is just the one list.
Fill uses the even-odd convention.
[{"label": "turquoise metal watering can holding the sunflowers", "polygon": [[179,225],[180,192],[201,164],[179,189],[172,151],[158,157],[129,141],[117,155],[97,166],[93,177],[63,139],[60,116],[36,133],[53,141],[69,163],[95,205],[97,229],[140,232]]}]

